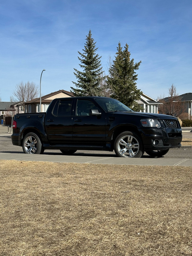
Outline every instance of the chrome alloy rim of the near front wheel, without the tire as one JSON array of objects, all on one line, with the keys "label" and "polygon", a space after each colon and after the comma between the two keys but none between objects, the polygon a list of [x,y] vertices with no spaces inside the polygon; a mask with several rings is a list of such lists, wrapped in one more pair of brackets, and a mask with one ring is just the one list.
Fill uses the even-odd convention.
[{"label": "chrome alloy rim of the near front wheel, without the tire", "polygon": [[139,142],[135,137],[125,135],[119,139],[117,149],[123,157],[134,157],[139,151]]}]

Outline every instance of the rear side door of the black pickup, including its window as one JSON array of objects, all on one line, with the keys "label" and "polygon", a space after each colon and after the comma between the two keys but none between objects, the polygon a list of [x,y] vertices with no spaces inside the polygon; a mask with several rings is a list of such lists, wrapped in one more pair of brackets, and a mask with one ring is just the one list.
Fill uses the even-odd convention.
[{"label": "rear side door of the black pickup, including its window", "polygon": [[56,101],[53,110],[46,113],[45,127],[50,144],[65,145],[73,143],[72,108],[73,99]]}]

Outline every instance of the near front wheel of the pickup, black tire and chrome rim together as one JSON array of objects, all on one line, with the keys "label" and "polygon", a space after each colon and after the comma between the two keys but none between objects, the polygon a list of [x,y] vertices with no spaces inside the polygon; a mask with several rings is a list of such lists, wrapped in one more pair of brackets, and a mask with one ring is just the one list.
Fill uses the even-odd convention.
[{"label": "near front wheel of the pickup, black tire and chrome rim together", "polygon": [[144,150],[140,137],[131,131],[124,131],[116,137],[114,150],[118,157],[142,157]]}]

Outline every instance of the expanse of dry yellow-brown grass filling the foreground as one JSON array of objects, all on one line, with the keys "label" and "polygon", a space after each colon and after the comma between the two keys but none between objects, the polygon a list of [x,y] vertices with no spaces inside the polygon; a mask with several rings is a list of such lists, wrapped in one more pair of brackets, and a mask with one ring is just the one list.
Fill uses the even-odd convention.
[{"label": "expanse of dry yellow-brown grass filling the foreground", "polygon": [[1,256],[192,255],[192,168],[1,160]]}]

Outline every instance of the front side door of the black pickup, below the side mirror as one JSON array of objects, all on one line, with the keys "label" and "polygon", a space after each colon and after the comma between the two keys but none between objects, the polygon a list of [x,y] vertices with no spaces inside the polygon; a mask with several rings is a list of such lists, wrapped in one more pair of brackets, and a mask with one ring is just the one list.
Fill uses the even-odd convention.
[{"label": "front side door of the black pickup, below the side mirror", "polygon": [[[90,110],[98,110],[100,116],[91,116]],[[77,99],[73,116],[73,143],[76,145],[106,144],[106,114],[92,101]]]}]

